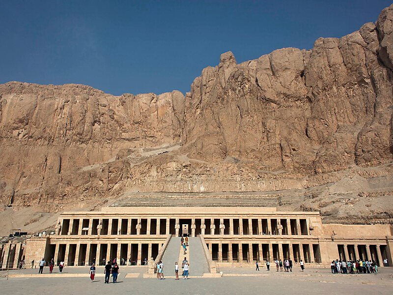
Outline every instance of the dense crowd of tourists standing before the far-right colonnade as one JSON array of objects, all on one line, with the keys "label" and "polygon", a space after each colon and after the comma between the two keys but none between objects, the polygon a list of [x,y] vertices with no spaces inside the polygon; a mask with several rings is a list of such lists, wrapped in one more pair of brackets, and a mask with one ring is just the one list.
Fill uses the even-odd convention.
[{"label": "dense crowd of tourists standing before the far-right colonnade", "polygon": [[341,261],[336,259],[332,261],[330,268],[332,273],[378,273],[378,265],[374,260]]}]

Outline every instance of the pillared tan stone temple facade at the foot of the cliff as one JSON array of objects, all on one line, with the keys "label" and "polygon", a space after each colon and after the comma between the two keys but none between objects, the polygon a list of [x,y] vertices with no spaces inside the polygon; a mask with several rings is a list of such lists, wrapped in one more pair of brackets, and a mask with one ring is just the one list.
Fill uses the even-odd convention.
[{"label": "pillared tan stone temple facade at the foot of the cliff", "polygon": [[[54,258],[66,266],[102,265],[124,259],[144,265],[166,255],[172,237],[200,239],[210,272],[225,265],[291,258],[314,266],[335,259],[392,264],[392,226],[323,224],[319,212],[277,211],[276,207],[105,207],[62,213],[52,235],[24,244],[2,245],[2,265]],[[178,246],[178,245],[177,245]],[[175,251],[182,256],[182,250]],[[150,269],[150,268],[149,268]]]}]

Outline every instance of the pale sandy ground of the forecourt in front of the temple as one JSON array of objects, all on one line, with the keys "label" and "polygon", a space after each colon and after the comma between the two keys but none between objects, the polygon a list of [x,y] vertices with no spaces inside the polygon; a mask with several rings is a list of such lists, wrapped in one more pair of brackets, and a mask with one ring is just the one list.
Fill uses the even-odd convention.
[{"label": "pale sandy ground of the forecourt in front of the temple", "polygon": [[[266,267],[257,272],[254,268],[222,268],[227,276],[221,278],[193,278],[175,281],[125,278],[127,272],[144,271],[144,267],[121,267],[117,284],[104,284],[103,277],[94,283],[88,278],[88,267],[69,267],[67,272],[85,272],[86,278],[10,278],[0,279],[1,294],[392,294],[393,268],[380,267],[378,274],[341,275],[331,274],[328,268],[307,268],[304,273],[294,269],[292,273],[276,272]],[[55,268],[56,270],[56,268]],[[13,272],[38,272],[38,269],[14,270]],[[48,272],[48,268],[44,272]],[[102,267],[97,269],[101,272]]]}]

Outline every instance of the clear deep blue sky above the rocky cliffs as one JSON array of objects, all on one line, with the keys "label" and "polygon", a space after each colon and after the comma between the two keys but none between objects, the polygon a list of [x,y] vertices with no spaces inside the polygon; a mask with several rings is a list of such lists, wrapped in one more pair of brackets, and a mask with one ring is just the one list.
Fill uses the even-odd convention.
[{"label": "clear deep blue sky above the rocky cliffs", "polygon": [[206,66],[310,49],[375,22],[384,0],[0,0],[0,83],[86,84],[105,92],[190,90]]}]

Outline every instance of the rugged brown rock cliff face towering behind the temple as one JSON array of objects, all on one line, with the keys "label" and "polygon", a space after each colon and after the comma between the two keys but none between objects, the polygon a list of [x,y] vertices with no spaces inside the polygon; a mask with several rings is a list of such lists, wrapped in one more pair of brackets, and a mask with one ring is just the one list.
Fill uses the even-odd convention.
[{"label": "rugged brown rock cliff face towering behind the temple", "polygon": [[[135,191],[268,191],[390,177],[392,20],[393,5],[376,24],[320,38],[309,51],[286,48],[240,64],[227,52],[186,97],[0,85],[1,204],[54,211]],[[296,206],[322,210],[332,196],[319,197]],[[393,212],[374,213],[384,210]]]}]

